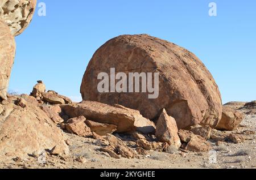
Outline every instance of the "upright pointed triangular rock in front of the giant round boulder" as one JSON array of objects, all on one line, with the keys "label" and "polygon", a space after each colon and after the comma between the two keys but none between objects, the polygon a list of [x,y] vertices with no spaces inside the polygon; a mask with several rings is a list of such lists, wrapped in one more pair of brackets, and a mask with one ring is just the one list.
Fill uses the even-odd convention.
[{"label": "upright pointed triangular rock in front of the giant round boulder", "polygon": [[170,117],[166,110],[163,109],[156,123],[156,138],[159,142],[165,142],[180,148],[181,142],[177,132],[178,128],[175,119]]}]

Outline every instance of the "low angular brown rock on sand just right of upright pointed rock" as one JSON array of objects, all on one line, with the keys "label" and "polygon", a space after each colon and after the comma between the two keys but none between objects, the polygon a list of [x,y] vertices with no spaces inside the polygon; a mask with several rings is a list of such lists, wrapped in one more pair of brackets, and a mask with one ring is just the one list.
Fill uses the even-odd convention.
[{"label": "low angular brown rock on sand just right of upright pointed rock", "polygon": [[184,149],[192,152],[208,152],[210,151],[210,144],[199,135],[193,134],[186,130],[179,130],[180,140],[185,143]]}]

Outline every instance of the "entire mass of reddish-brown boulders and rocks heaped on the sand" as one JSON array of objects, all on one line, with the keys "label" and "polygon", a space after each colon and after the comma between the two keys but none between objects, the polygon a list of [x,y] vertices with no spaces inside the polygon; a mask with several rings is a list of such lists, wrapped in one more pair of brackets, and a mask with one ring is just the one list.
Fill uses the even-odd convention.
[{"label": "entire mass of reddish-brown boulders and rocks heaped on the sand", "polygon": [[[53,155],[67,154],[67,143],[58,126],[97,139],[103,144],[100,151],[114,158],[136,158],[170,149],[207,152],[211,148],[209,139],[220,142],[222,138],[215,136],[214,128],[236,130],[243,120],[242,113],[222,108],[217,84],[194,54],[148,35],[119,36],[101,46],[86,69],[81,84],[84,101],[78,104],[55,91],[46,92],[42,80],[30,96],[7,96],[14,35],[31,21],[35,2],[0,3],[0,156],[32,155],[44,149]],[[23,16],[19,16],[21,11]],[[113,67],[125,73],[158,72],[159,97],[98,92],[97,75]],[[243,106],[254,107],[255,103]],[[225,138],[234,143],[245,140],[233,133],[222,140]]]}]

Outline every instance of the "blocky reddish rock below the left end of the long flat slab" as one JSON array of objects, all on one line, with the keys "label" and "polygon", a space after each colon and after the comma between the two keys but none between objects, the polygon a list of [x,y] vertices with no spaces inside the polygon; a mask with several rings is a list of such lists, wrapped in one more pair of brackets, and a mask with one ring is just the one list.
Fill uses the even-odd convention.
[{"label": "blocky reddish rock below the left end of the long flat slab", "polygon": [[68,132],[81,137],[91,136],[90,128],[85,124],[86,118],[83,116],[69,119],[65,128]]}]

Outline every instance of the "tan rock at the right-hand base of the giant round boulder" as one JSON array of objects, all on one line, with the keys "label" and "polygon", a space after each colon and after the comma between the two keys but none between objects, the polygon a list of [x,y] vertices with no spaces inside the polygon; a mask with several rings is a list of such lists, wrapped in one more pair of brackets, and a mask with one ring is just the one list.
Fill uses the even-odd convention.
[{"label": "tan rock at the right-hand base of the giant round boulder", "polygon": [[219,130],[233,131],[240,125],[244,118],[245,115],[243,113],[224,106],[221,121],[216,128]]}]

